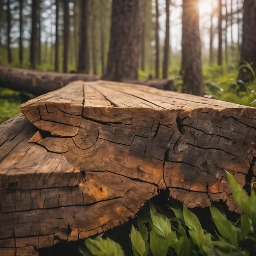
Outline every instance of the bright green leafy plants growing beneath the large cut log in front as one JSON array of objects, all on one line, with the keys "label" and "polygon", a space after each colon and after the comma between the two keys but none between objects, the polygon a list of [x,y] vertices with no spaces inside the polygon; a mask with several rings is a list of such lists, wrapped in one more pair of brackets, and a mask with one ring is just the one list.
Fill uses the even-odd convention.
[{"label": "bright green leafy plants growing beneath the large cut log in front", "polygon": [[[132,224],[130,254],[133,256],[249,256],[256,252],[256,196],[250,195],[227,173],[234,199],[243,210],[236,223],[228,220],[219,206],[211,206],[213,230],[204,230],[198,216],[185,206],[168,205],[175,217],[159,206],[149,203],[148,211],[137,218],[137,229]],[[158,213],[157,209],[162,213]],[[149,214],[148,214],[149,213]],[[136,224],[136,223],[135,223]],[[215,230],[215,231],[214,231]],[[103,243],[103,241],[106,241]],[[86,239],[86,248],[79,250],[84,256],[124,255],[121,246],[109,238]],[[111,249],[110,249],[111,247]],[[106,254],[107,253],[107,254]]]}]

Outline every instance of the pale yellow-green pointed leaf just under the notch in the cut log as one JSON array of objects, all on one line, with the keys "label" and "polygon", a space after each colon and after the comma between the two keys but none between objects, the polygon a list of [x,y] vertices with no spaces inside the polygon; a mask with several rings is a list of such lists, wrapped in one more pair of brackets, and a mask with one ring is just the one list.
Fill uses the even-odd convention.
[{"label": "pale yellow-green pointed leaf just under the notch in the cut log", "polygon": [[150,215],[152,219],[153,229],[159,236],[167,238],[171,234],[171,222],[166,218],[166,216],[160,213],[153,213],[150,208]]}]

